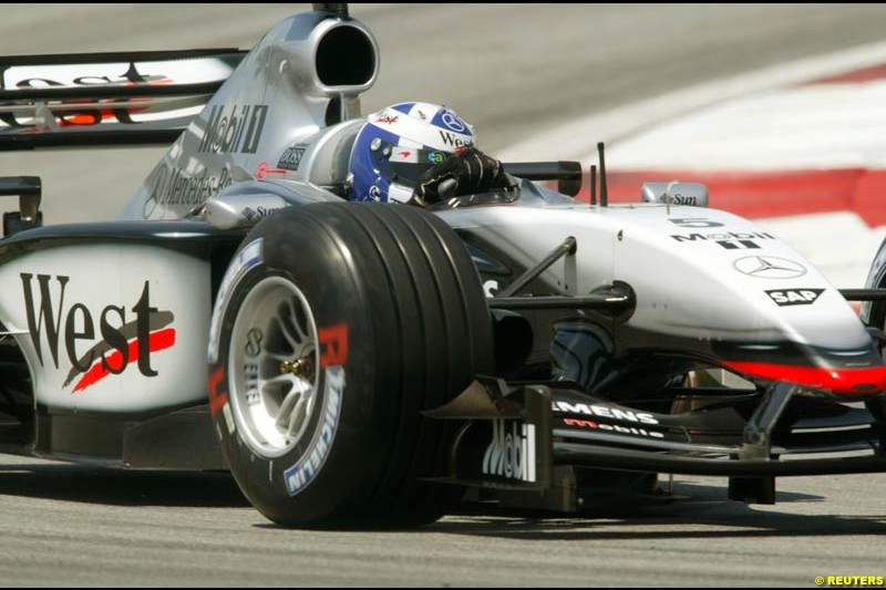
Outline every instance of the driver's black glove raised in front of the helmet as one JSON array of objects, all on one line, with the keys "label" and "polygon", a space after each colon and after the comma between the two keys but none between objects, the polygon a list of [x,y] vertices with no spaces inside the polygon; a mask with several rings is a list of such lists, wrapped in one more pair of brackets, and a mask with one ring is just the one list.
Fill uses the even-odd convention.
[{"label": "driver's black glove raised in front of the helmet", "polygon": [[416,205],[432,205],[462,195],[509,187],[502,163],[476,147],[466,147],[427,169],[412,194]]}]

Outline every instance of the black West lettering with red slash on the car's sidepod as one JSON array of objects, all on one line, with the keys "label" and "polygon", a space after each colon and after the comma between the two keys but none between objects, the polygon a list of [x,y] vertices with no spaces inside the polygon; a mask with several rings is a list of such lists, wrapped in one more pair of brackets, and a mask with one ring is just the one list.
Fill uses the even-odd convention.
[{"label": "black West lettering with red slash on the car's sidepod", "polygon": [[70,277],[56,276],[54,281],[50,275],[22,272],[20,277],[37,358],[41,365],[52,362],[59,369],[63,345],[62,353],[71,363],[63,386],[82,375],[74,392],[122,373],[131,363],[136,363],[144,376],[155,376],[151,353],[175,344],[175,329],[167,328],[173,323],[173,313],[151,307],[148,281],[132,308],[109,304],[94,313],[83,303],[65,307]]}]

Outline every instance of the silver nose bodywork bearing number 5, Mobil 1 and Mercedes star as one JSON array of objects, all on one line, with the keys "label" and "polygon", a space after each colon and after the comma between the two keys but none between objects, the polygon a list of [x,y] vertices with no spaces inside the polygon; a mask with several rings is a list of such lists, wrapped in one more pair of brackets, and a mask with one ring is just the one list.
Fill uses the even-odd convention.
[{"label": "silver nose bodywork bearing number 5, Mobil 1 and Mercedes star", "polygon": [[[528,266],[566,236],[578,242],[543,279],[552,290],[590,293],[614,280],[637,292],[629,324],[704,340],[790,340],[855,349],[869,343],[857,315],[793,248],[725,211],[664,205],[477,207],[441,216],[463,234]],[[474,242],[475,240],[468,239]],[[795,266],[795,272],[758,268]],[[504,287],[504,282],[502,287]],[[770,291],[821,289],[808,304],[779,306]],[[811,312],[812,311],[812,312]]]}]

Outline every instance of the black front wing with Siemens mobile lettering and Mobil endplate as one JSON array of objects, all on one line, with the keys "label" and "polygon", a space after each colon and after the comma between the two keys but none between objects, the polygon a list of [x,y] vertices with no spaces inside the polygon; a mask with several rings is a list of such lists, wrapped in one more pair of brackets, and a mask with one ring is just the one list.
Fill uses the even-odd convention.
[{"label": "black front wing with Siemens mobile lettering and Mobil endplate", "polygon": [[[775,382],[754,392],[687,390],[705,406],[660,413],[615,404],[566,382],[478,377],[432,420],[464,421],[441,483],[546,491],[558,468],[730,478],[730,497],[774,503],[775,476],[886,470],[886,400],[826,404]],[[650,404],[642,404],[649,406]],[[805,410],[804,410],[805,408]],[[813,456],[814,455],[814,456]],[[567,505],[570,503],[567,503]]]}]

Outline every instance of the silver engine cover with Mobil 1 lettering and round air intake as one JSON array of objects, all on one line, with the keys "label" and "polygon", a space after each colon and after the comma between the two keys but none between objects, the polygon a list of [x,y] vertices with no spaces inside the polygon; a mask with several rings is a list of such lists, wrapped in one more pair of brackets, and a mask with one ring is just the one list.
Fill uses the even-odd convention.
[{"label": "silver engine cover with Mobil 1 lettering and round air intake", "polygon": [[[358,95],[378,75],[378,44],[358,21],[326,17],[297,14],[271,29],[147,176],[121,219],[183,218],[253,179],[343,184],[359,125],[326,127],[356,116]],[[329,83],[336,76],[322,65],[330,59],[364,68]],[[298,151],[308,145],[313,147],[301,166],[305,153]]]}]

